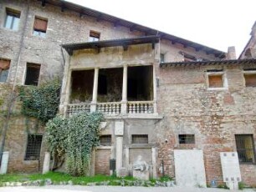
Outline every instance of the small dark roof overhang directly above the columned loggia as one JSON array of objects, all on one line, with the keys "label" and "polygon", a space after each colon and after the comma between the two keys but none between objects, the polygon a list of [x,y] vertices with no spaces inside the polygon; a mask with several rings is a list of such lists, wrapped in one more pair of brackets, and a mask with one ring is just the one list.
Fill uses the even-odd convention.
[{"label": "small dark roof overhang directly above the columned loggia", "polygon": [[146,44],[151,43],[152,48],[155,48],[155,43],[159,43],[158,36],[144,36],[140,38],[121,38],[114,40],[86,42],[86,43],[69,43],[62,44],[69,55],[72,55],[75,50],[94,48],[100,53],[100,48],[122,46],[126,51],[129,45]]}]

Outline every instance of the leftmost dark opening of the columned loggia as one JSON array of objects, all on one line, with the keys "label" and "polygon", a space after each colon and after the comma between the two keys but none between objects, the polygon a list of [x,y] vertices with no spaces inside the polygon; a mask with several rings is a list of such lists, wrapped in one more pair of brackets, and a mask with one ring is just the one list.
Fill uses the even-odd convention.
[{"label": "leftmost dark opening of the columned loggia", "polygon": [[72,71],[70,104],[90,103],[92,100],[95,70]]}]

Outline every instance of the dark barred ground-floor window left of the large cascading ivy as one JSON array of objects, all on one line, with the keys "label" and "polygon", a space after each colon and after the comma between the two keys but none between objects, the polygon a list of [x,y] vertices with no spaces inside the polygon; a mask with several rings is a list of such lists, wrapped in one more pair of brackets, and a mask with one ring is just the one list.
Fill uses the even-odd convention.
[{"label": "dark barred ground-floor window left of the large cascading ivy", "polygon": [[28,134],[25,160],[38,160],[40,158],[42,139],[43,135]]}]

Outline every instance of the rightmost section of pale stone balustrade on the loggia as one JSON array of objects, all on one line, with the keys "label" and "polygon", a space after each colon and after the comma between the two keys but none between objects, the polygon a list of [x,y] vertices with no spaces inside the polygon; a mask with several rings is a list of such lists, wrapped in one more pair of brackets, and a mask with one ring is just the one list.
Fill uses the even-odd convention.
[{"label": "rightmost section of pale stone balustrade on the loggia", "polygon": [[153,114],[154,105],[152,101],[129,101],[127,111],[128,114]]}]

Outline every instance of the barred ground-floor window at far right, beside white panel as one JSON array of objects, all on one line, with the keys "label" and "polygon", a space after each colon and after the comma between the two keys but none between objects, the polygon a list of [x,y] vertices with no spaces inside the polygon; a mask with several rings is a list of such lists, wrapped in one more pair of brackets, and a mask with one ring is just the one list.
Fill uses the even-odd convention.
[{"label": "barred ground-floor window at far right, beside white panel", "polygon": [[253,134],[235,134],[235,139],[239,162],[255,164]]}]

